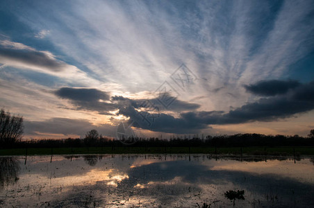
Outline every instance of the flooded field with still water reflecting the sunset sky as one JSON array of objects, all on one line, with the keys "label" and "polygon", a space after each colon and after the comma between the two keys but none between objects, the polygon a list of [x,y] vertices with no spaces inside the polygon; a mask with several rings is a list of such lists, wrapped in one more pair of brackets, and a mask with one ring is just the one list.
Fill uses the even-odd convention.
[{"label": "flooded field with still water reflecting the sunset sky", "polygon": [[0,207],[314,207],[310,157],[0,157]]}]

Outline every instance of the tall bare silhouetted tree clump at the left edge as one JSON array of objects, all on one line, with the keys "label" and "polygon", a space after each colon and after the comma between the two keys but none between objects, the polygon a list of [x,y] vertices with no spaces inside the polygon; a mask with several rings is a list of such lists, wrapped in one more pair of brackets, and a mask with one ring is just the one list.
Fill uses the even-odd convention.
[{"label": "tall bare silhouetted tree clump at the left edge", "polygon": [[12,146],[23,135],[23,117],[11,116],[10,112],[0,110],[0,144]]}]

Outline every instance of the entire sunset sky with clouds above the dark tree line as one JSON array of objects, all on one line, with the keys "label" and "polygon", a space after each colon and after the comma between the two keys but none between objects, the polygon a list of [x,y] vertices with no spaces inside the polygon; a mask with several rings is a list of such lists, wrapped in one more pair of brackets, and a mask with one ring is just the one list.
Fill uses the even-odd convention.
[{"label": "entire sunset sky with clouds above the dark tree line", "polygon": [[306,136],[313,1],[1,1],[0,107],[24,139]]}]

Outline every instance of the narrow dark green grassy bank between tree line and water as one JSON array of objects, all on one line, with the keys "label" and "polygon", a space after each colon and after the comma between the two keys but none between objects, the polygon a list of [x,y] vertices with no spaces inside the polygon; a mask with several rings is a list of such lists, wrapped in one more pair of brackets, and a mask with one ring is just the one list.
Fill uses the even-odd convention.
[{"label": "narrow dark green grassy bank between tree line and water", "polygon": [[91,148],[13,148],[0,155],[77,155],[77,154],[234,154],[314,155],[314,147],[91,147]]}]

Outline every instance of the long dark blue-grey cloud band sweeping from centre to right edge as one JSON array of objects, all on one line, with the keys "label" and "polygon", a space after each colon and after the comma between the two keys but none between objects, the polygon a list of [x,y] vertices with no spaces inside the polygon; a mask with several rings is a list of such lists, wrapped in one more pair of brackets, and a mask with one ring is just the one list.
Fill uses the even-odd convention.
[{"label": "long dark blue-grey cloud band sweeping from centre to right edge", "polygon": [[129,116],[135,127],[158,132],[194,133],[214,124],[236,124],[251,121],[276,121],[297,113],[314,109],[314,82],[295,87],[291,92],[261,98],[254,103],[242,105],[229,112],[183,112],[178,118],[168,114],[138,112],[129,106],[119,110],[119,114]]}]

